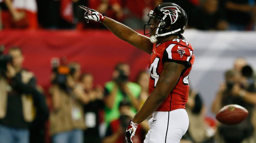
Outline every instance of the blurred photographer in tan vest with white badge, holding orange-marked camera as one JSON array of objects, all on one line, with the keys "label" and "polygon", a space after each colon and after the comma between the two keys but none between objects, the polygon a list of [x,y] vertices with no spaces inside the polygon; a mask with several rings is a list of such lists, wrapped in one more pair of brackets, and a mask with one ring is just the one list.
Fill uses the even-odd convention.
[{"label": "blurred photographer in tan vest with white badge, holding orange-marked camera", "polygon": [[[65,86],[57,82],[50,88],[53,103],[50,134],[53,143],[83,143],[83,103],[87,104],[89,98],[79,83],[80,65],[70,63],[68,68],[73,69],[73,72],[64,76]],[[56,77],[58,74],[55,73]]]}]

